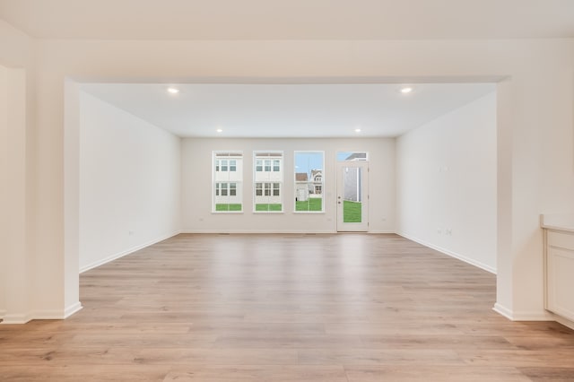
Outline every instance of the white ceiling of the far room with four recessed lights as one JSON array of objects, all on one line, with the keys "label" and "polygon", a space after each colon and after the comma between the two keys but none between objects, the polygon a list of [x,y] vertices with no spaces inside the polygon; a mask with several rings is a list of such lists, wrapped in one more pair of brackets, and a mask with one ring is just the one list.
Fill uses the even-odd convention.
[{"label": "white ceiling of the far room with four recessed lights", "polygon": [[182,137],[397,136],[495,91],[493,83],[419,83],[409,94],[383,83],[174,86],[177,95],[159,83],[82,89]]}]

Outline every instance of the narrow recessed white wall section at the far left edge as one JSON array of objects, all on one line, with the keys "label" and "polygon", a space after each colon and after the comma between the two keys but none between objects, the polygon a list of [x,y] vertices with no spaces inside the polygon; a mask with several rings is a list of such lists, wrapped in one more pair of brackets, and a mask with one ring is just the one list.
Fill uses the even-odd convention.
[{"label": "narrow recessed white wall section at the far left edge", "polygon": [[21,68],[0,66],[0,317],[29,320],[26,218],[26,81]]}]

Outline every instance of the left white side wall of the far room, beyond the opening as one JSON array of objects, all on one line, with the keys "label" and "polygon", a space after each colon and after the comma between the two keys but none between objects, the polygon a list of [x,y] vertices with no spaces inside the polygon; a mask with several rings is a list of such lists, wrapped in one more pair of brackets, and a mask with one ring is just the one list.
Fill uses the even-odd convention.
[{"label": "left white side wall of the far room, beyond the opening", "polygon": [[80,93],[80,269],[178,233],[180,140]]}]

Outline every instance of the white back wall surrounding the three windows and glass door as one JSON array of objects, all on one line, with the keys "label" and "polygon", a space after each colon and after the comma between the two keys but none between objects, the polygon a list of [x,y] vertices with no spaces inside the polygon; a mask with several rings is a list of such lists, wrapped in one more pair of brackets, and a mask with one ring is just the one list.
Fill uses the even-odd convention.
[{"label": "white back wall surrounding the three windows and glass door", "polygon": [[[183,230],[186,232],[335,232],[335,154],[370,153],[370,231],[395,230],[394,139],[184,139]],[[243,213],[212,213],[213,151],[242,151]],[[253,213],[253,152],[283,152],[283,213]],[[295,151],[325,152],[325,213],[293,213]]]}]

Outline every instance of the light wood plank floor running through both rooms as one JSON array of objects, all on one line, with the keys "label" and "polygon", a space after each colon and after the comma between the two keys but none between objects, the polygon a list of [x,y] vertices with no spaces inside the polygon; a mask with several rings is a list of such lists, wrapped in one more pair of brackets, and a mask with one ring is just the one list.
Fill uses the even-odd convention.
[{"label": "light wood plank floor running through both rooms", "polygon": [[574,332],[395,235],[179,235],[81,276],[83,310],[0,326],[0,380],[574,381]]}]

